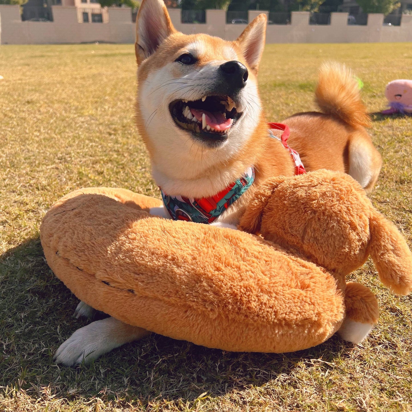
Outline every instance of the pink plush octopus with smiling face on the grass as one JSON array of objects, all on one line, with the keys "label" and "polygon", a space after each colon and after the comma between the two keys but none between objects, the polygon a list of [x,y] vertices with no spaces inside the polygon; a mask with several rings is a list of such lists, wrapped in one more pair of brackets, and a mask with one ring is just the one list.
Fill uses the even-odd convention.
[{"label": "pink plush octopus with smiling face on the grass", "polygon": [[382,110],[382,115],[401,113],[412,115],[412,80],[393,80],[386,85],[385,96],[389,109]]}]

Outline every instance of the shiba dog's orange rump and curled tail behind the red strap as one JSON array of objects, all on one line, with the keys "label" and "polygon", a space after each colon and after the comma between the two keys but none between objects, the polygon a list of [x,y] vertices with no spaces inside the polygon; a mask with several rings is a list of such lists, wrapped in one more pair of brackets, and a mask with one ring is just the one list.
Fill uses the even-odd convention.
[{"label": "shiba dog's orange rump and curled tail behind the red strap", "polygon": [[284,120],[290,127],[290,146],[300,153],[307,171],[348,173],[366,191],[372,190],[382,158],[365,129],[371,121],[351,70],[324,63],[315,96],[321,113],[298,113]]}]

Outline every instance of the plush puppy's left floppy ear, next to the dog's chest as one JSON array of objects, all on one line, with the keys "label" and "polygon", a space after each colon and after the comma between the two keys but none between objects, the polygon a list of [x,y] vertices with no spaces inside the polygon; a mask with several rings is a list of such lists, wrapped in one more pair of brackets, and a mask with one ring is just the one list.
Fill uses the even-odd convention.
[{"label": "plush puppy's left floppy ear, next to the dog's chest", "polygon": [[282,177],[272,178],[266,180],[258,187],[253,199],[246,208],[246,212],[240,219],[238,226],[239,230],[249,233],[258,233],[260,231],[260,224],[262,222],[262,214],[271,198],[274,190],[278,187],[284,179]]}]

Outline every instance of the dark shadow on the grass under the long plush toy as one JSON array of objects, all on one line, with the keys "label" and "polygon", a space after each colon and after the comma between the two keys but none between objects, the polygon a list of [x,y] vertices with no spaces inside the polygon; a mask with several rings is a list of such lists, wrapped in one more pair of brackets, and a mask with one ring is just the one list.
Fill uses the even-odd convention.
[{"label": "dark shadow on the grass under the long plush toy", "polygon": [[[38,238],[0,256],[0,386],[33,397],[51,386],[57,398],[147,404],[155,399],[193,402],[292,376],[306,365],[328,369],[350,350],[338,337],[286,354],[233,353],[151,335],[115,349],[91,365],[66,368],[53,353],[87,320],[73,316],[78,300],[47,266]],[[0,323],[1,324],[1,323]],[[297,373],[297,372],[296,372]]]}]

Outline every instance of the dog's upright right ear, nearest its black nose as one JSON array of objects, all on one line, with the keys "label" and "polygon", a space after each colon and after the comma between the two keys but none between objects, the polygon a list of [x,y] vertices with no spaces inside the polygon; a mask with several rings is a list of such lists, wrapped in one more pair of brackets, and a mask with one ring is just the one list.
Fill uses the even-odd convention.
[{"label": "dog's upright right ear, nearest its black nose", "polygon": [[266,23],[266,14],[259,14],[236,39],[246,63],[255,74],[258,74],[260,59],[265,48]]}]

